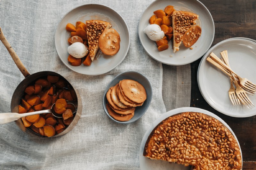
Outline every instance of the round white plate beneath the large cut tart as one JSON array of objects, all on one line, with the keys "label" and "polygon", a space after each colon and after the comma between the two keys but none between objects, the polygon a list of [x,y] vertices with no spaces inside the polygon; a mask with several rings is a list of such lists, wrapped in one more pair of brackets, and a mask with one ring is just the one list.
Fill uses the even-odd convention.
[{"label": "round white plate beneath the large cut tart", "polygon": [[[198,112],[198,113],[204,113],[205,115],[209,115],[214,117],[215,119],[219,120],[222,124],[224,124],[229,130],[230,132],[234,135],[234,137],[236,138],[236,135],[234,134],[234,132],[232,131],[232,129],[228,126],[228,124],[226,122],[224,122],[222,119],[220,119],[220,117],[218,117],[217,115],[214,115],[212,112],[209,112],[207,110],[204,109],[200,109],[200,108],[196,108],[196,107],[181,107],[181,108],[177,108],[174,110],[170,110],[169,112],[164,113],[163,115],[161,115],[159,118],[157,118],[148,128],[148,130],[146,131],[141,144],[140,144],[140,169],[141,170],[155,170],[155,169],[161,169],[161,170],[190,170],[189,166],[184,166],[184,165],[179,165],[179,164],[175,164],[175,163],[170,163],[168,161],[164,161],[164,160],[151,160],[149,158],[146,158],[143,156],[143,151],[144,151],[144,147],[145,144],[147,142],[148,136],[150,135],[151,131],[161,122],[163,121],[165,118],[170,117],[172,115],[176,115],[182,112]],[[236,141],[239,145],[239,142],[236,138]],[[239,145],[240,148],[240,145]],[[240,152],[241,152],[241,148],[240,148]],[[241,152],[241,157],[242,157],[242,152]],[[243,162],[243,157],[242,157],[242,162]]]}]

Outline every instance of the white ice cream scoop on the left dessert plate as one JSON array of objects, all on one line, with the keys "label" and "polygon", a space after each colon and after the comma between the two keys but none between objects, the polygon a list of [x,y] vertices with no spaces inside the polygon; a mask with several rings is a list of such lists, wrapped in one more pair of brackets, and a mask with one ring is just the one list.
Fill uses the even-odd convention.
[{"label": "white ice cream scoop on the left dessert plate", "polygon": [[68,53],[75,58],[83,58],[88,52],[88,49],[81,42],[75,42],[68,47]]}]

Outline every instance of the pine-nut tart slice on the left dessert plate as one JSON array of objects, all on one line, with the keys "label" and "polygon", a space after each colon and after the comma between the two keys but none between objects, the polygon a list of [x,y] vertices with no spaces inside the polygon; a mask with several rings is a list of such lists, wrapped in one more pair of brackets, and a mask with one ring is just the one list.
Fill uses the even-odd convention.
[{"label": "pine-nut tart slice on the left dessert plate", "polygon": [[89,45],[89,55],[92,61],[99,49],[99,38],[105,29],[111,28],[112,25],[109,22],[102,20],[87,20],[86,21],[86,33]]}]

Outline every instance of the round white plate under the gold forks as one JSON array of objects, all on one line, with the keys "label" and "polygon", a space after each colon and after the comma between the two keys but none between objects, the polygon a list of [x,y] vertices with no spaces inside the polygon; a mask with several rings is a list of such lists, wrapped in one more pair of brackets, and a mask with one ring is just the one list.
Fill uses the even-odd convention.
[{"label": "round white plate under the gold forks", "polygon": [[[218,70],[206,58],[211,52],[221,57],[220,52],[228,50],[229,64],[242,78],[248,78],[256,83],[256,43],[254,40],[243,38],[232,38],[224,40],[213,46],[202,58],[197,72],[199,89],[209,105],[215,110],[233,117],[249,117],[256,115],[256,107],[248,109],[241,106],[234,106],[229,97],[230,79],[222,71]],[[256,96],[248,95],[251,101],[256,104]]]}]

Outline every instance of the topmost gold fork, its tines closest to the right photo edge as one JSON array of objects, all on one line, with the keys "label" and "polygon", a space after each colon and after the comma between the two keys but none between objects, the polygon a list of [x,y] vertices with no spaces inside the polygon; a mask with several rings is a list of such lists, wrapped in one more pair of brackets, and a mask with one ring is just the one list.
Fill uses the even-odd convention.
[{"label": "topmost gold fork, its tines closest to the right photo edge", "polygon": [[219,57],[217,57],[214,53],[211,53],[210,56],[218,62],[222,67],[225,67],[229,72],[233,73],[237,80],[239,81],[239,84],[248,92],[255,93],[256,92],[256,85],[249,81],[247,78],[241,78],[239,77],[233,70],[231,70],[230,67],[228,67],[225,63],[223,63]]}]

